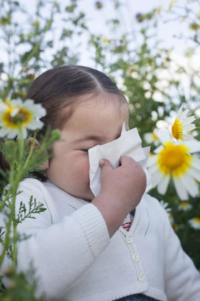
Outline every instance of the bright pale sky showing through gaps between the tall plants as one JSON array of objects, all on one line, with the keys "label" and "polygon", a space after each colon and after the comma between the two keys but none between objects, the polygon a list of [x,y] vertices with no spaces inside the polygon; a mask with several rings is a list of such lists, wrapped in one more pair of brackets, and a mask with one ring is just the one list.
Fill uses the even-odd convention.
[{"label": "bright pale sky showing through gaps between the tall plants", "polygon": [[[33,14],[35,11],[35,5],[37,3],[37,0],[18,0],[22,6]],[[88,25],[90,32],[94,34],[100,34],[105,39],[109,39],[109,32],[108,28],[105,24],[105,21],[107,19],[115,18],[122,20],[122,26],[119,27],[118,31],[115,33],[116,36],[120,36],[123,32],[130,32],[134,31],[138,28],[138,23],[135,19],[135,15],[138,13],[145,14],[149,13],[153,9],[157,9],[158,7],[162,7],[163,10],[168,10],[170,0],[119,0],[122,6],[119,10],[115,11],[113,8],[113,2],[114,0],[100,0],[103,4],[103,7],[101,10],[95,9],[95,2],[96,0],[79,0],[77,1],[78,8],[80,11],[83,11],[86,15],[86,25]],[[192,0],[176,0],[176,6],[184,7],[188,2],[191,2]],[[47,2],[47,1],[46,1]],[[64,9],[67,5],[70,4],[69,0],[57,0],[58,3],[61,4],[62,9]],[[200,12],[200,1],[198,3],[191,3],[191,8],[194,10],[194,12]],[[50,12],[47,9],[44,9],[43,14],[49,14]],[[165,15],[166,16],[166,15]],[[18,19],[21,19],[21,16],[19,15],[17,17]],[[161,45],[163,47],[166,47],[167,49],[170,47],[173,47],[172,51],[172,57],[173,59],[179,64],[184,67],[187,67],[188,62],[184,57],[184,53],[186,49],[191,45],[188,41],[185,42],[185,40],[176,39],[173,36],[178,36],[180,33],[183,33],[184,35],[189,35],[191,32],[188,29],[188,24],[186,23],[180,23],[178,21],[171,21],[168,23],[165,23],[168,17],[164,17],[160,20],[158,28],[157,28],[157,38],[161,40]],[[171,17],[170,17],[171,18]],[[61,23],[61,17],[60,15],[57,17],[55,21],[56,26],[56,34],[55,36],[59,36],[59,30],[63,28],[63,24]],[[56,37],[54,37],[56,39]],[[78,64],[93,67],[94,62],[91,59],[91,53],[89,53],[88,48],[86,47],[86,43],[84,40],[85,36],[81,36],[78,39],[82,42],[82,45],[78,48],[78,51],[81,53],[80,61]],[[76,41],[77,42],[77,41]],[[68,40],[66,43],[69,43]],[[138,41],[133,41],[135,45],[138,43]],[[73,45],[65,45],[66,47],[73,48]],[[24,47],[24,46],[23,46]],[[57,49],[60,47],[60,42],[56,43]],[[51,56],[52,51],[48,50],[48,53],[45,54],[47,56]],[[200,68],[200,54],[196,55],[191,63],[192,67],[195,67],[197,69]],[[6,61],[6,57],[4,53],[2,52],[2,48],[0,49],[0,60]],[[175,68],[175,67],[174,67]],[[173,73],[173,69],[170,70]],[[185,89],[187,89],[188,86],[188,79],[182,78],[183,85],[185,86]],[[120,84],[120,82],[119,82]],[[200,83],[199,83],[200,85]],[[186,92],[187,93],[187,92]]]}]

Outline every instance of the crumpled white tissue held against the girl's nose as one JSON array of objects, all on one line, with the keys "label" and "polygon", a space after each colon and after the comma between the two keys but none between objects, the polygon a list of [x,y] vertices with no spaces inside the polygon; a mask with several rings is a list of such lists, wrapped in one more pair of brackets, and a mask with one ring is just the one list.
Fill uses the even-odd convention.
[{"label": "crumpled white tissue held against the girl's nose", "polygon": [[126,131],[125,122],[123,123],[121,135],[118,139],[90,148],[88,150],[89,180],[93,195],[96,197],[100,192],[101,168],[99,167],[99,161],[105,159],[112,165],[112,168],[115,169],[119,167],[120,156],[129,156],[142,166],[146,174],[145,193],[148,192],[152,188],[151,177],[146,169],[149,152],[150,146],[141,147],[141,139],[136,127]]}]

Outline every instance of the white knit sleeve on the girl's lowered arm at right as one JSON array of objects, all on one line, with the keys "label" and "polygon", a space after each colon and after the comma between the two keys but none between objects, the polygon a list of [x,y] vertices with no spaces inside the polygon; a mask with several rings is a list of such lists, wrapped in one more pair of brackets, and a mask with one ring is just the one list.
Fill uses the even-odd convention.
[{"label": "white knit sleeve on the girl's lowered arm at right", "polygon": [[183,251],[179,238],[170,225],[167,213],[163,208],[161,211],[164,218],[164,283],[167,300],[199,301],[200,274],[193,261]]}]

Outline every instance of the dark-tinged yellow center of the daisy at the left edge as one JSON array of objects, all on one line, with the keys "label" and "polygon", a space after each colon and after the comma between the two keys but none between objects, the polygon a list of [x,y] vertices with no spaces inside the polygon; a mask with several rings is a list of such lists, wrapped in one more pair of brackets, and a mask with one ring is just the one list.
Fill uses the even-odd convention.
[{"label": "dark-tinged yellow center of the daisy at the left edge", "polygon": [[7,111],[2,116],[2,121],[6,125],[6,127],[16,129],[18,128],[18,123],[20,123],[21,127],[25,124],[29,123],[32,118],[32,113],[24,108],[19,108],[18,113],[15,116],[11,116],[10,113],[15,108],[8,108]]}]

